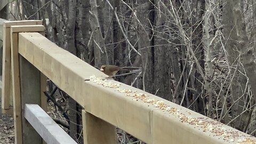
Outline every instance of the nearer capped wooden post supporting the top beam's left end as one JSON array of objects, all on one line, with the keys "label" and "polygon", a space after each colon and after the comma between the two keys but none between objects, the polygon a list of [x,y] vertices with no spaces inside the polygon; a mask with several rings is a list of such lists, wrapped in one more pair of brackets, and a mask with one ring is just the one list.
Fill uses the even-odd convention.
[{"label": "nearer capped wooden post supporting the top beam's left end", "polygon": [[[41,105],[42,92],[45,90],[46,79],[29,61],[19,55],[19,32],[44,31],[44,26],[11,26],[11,62],[14,103],[15,143],[42,143],[42,138],[26,121],[24,115],[25,103]],[[45,107],[45,104],[44,104]]]}]

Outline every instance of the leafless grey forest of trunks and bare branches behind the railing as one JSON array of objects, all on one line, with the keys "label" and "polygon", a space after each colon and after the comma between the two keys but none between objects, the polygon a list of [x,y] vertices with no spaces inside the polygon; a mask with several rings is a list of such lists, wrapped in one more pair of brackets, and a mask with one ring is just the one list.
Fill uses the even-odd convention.
[{"label": "leafless grey forest of trunks and bare branches behind the railing", "polygon": [[[47,38],[92,66],[142,69],[118,76],[117,81],[255,136],[255,4],[253,0],[15,0],[1,17],[43,20]],[[79,111],[73,100],[67,105]],[[72,119],[79,124],[79,112]],[[82,143],[81,126],[70,124],[70,133]],[[118,136],[120,143],[142,143],[123,131],[118,130]]]}]

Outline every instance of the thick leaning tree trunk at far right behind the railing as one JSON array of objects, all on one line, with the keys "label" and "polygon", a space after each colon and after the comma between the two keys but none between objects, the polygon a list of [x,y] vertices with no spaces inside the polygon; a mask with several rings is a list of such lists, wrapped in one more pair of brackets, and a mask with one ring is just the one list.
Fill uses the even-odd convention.
[{"label": "thick leaning tree trunk at far right behind the railing", "polygon": [[[246,80],[246,77],[243,74],[241,74],[241,72],[239,72],[239,71],[243,71],[243,68],[241,67],[241,52],[250,48],[244,47],[243,48],[244,50],[243,50],[241,49],[242,47],[240,47],[240,46],[245,46],[245,43],[247,43],[246,32],[243,31],[245,30],[245,25],[244,23],[242,23],[243,15],[242,13],[238,12],[238,11],[241,12],[241,9],[242,9],[241,5],[238,4],[238,6],[234,6],[234,2],[227,1],[227,5],[225,7],[226,9],[223,9],[223,17],[224,17],[223,24],[225,25],[225,28],[223,29],[223,33],[227,41],[225,49],[228,55],[227,56],[228,65],[231,69],[230,70],[230,81],[231,81],[230,91],[231,91],[231,103],[234,105],[231,108],[231,112],[232,112],[231,116],[232,118],[235,118],[243,112],[242,106],[244,105],[243,100],[245,99],[245,97],[243,98],[243,95],[246,96],[246,94],[244,94],[243,92],[246,90],[247,80]],[[240,10],[238,10],[235,13],[233,12],[234,9],[240,9]],[[239,18],[238,23],[236,21],[237,17],[241,17]],[[238,25],[240,25],[241,27],[238,28],[237,27]],[[238,30],[241,32],[243,31],[244,34],[239,35],[239,33],[237,33]],[[241,41],[242,43],[239,44],[237,43],[238,41]],[[242,59],[243,59],[243,55],[242,55]],[[238,130],[242,130],[245,123],[243,121],[242,123],[239,123],[239,118],[237,118],[234,121],[234,126]]]}]

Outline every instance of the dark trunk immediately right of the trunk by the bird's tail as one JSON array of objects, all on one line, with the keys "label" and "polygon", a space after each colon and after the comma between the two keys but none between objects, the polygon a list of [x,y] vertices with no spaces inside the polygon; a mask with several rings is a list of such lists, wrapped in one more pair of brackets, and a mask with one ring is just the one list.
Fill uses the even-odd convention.
[{"label": "dark trunk immediately right of the trunk by the bird's tail", "polygon": [[[156,9],[161,5],[155,1]],[[157,91],[156,95],[166,100],[172,100],[172,51],[175,47],[169,42],[172,36],[167,32],[170,26],[164,14],[161,11],[155,11],[155,36],[154,36],[154,85]],[[165,32],[166,31],[166,32]],[[170,40],[169,40],[170,41]],[[178,69],[179,70],[179,69]]]}]

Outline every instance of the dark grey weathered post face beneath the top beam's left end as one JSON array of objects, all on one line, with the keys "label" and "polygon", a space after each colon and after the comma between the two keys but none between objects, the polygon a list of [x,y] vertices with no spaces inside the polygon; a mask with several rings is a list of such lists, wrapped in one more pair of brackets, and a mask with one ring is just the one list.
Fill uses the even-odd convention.
[{"label": "dark grey weathered post face beneath the top beam's left end", "polygon": [[40,135],[28,124],[24,117],[25,103],[41,105],[41,74],[38,69],[20,55],[19,64],[22,141],[24,144],[42,143]]}]

